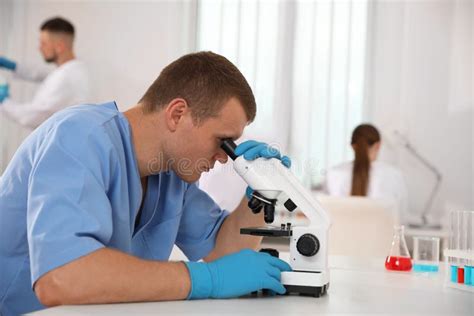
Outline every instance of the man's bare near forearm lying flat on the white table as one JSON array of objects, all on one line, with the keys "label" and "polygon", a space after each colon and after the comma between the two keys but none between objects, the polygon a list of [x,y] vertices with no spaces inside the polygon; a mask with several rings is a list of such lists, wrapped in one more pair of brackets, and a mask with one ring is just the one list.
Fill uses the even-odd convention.
[{"label": "man's bare near forearm lying flat on the white table", "polygon": [[185,299],[189,273],[182,262],[142,260],[103,248],[43,275],[35,292],[47,306]]}]

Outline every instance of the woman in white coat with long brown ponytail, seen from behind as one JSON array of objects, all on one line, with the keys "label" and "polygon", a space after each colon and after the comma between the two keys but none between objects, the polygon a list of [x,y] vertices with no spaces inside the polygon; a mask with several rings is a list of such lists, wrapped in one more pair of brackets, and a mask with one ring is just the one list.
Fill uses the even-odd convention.
[{"label": "woman in white coat with long brown ponytail, seen from behind", "polygon": [[330,168],[324,189],[332,196],[367,196],[387,201],[401,219],[408,207],[407,187],[396,167],[376,160],[380,145],[380,133],[373,125],[357,126],[351,140],[355,159]]}]

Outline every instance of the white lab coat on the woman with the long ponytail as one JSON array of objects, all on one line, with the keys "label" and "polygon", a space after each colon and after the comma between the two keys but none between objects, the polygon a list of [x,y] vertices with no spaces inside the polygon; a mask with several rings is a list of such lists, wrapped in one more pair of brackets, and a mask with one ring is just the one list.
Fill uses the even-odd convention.
[{"label": "white lab coat on the woman with the long ponytail", "polygon": [[[326,174],[324,191],[332,196],[350,196],[354,162],[332,167]],[[370,164],[367,197],[387,202],[393,214],[400,220],[407,216],[408,190],[403,174],[394,166],[373,161]]]}]

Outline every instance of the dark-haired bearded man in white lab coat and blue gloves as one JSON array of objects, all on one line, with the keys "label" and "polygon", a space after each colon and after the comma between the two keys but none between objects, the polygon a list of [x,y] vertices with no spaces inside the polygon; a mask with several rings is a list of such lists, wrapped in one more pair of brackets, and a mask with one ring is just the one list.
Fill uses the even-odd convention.
[{"label": "dark-haired bearded man in white lab coat and blue gloves", "polygon": [[74,26],[56,17],[44,22],[40,30],[40,52],[46,62],[58,66],[51,73],[0,56],[0,68],[13,71],[16,78],[41,82],[29,102],[17,102],[8,98],[8,93],[0,100],[0,112],[29,128],[36,128],[55,112],[90,98],[85,64],[75,58],[73,51]]}]

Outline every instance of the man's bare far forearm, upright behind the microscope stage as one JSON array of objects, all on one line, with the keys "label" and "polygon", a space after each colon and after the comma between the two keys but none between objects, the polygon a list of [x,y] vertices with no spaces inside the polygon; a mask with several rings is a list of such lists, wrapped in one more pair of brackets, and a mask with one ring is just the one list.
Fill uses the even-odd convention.
[{"label": "man's bare far forearm, upright behind the microscope stage", "polygon": [[243,198],[239,206],[225,219],[217,234],[214,250],[204,259],[212,261],[226,254],[243,248],[257,249],[262,237],[241,235],[242,227],[259,227],[265,225],[263,211],[254,214],[247,206],[247,198]]}]

